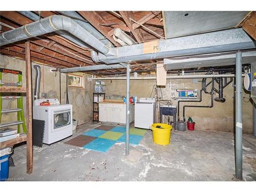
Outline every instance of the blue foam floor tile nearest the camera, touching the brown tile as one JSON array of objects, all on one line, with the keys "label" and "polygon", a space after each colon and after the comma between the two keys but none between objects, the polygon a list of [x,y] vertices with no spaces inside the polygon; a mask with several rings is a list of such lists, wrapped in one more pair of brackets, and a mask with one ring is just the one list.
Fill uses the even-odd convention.
[{"label": "blue foam floor tile nearest the camera, touching the brown tile", "polygon": [[116,141],[110,139],[96,138],[90,143],[84,145],[82,148],[87,148],[88,150],[94,150],[97,152],[107,152],[115,142]]}]

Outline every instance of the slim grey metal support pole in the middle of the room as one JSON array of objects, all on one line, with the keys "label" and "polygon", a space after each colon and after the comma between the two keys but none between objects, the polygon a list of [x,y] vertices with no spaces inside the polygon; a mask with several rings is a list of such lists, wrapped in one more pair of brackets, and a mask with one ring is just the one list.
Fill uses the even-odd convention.
[{"label": "slim grey metal support pole in the middle of the room", "polygon": [[125,155],[129,155],[129,129],[130,129],[130,64],[126,66],[126,140]]}]

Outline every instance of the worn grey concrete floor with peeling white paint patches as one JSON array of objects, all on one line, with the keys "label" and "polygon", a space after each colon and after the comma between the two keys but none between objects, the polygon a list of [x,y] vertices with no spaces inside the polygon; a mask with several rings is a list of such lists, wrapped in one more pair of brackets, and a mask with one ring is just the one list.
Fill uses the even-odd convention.
[{"label": "worn grey concrete floor with peeling white paint patches", "polygon": [[[234,181],[232,133],[172,132],[168,146],[157,145],[149,130],[141,143],[130,147],[116,143],[106,153],[85,150],[63,142],[93,129],[79,126],[74,135],[52,145],[34,147],[33,174],[26,174],[26,145],[14,149],[15,167],[9,178],[25,181]],[[256,180],[256,138],[243,135],[243,178]]]}]

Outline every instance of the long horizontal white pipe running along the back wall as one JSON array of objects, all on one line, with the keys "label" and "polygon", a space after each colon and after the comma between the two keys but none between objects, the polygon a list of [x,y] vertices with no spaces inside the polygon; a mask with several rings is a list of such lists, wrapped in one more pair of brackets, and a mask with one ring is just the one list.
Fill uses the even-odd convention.
[{"label": "long horizontal white pipe running along the back wall", "polygon": [[[245,74],[242,74],[244,77]],[[167,76],[166,79],[193,79],[193,78],[214,78],[214,77],[236,77],[235,74],[214,74],[214,75],[183,75]],[[89,80],[125,80],[126,77],[96,77],[88,78]],[[130,77],[130,80],[155,80],[154,77]]]}]

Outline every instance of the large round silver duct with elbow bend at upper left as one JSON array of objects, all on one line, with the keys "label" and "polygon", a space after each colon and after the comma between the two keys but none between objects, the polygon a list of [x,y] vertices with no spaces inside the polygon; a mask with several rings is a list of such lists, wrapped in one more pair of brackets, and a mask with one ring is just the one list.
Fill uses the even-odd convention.
[{"label": "large round silver duct with elbow bend at upper left", "polygon": [[59,30],[69,32],[102,54],[109,53],[110,49],[101,41],[74,22],[73,19],[63,15],[52,15],[31,24],[4,32],[0,34],[0,46]]}]

